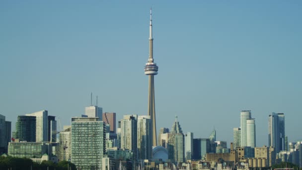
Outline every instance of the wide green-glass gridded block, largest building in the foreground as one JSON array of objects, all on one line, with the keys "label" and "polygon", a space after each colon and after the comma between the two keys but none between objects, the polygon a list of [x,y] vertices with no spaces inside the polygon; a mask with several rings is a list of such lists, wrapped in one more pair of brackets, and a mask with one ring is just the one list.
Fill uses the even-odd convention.
[{"label": "wide green-glass gridded block, largest building in the foreground", "polygon": [[105,152],[104,122],[98,117],[72,118],[71,162],[81,170],[99,170]]}]

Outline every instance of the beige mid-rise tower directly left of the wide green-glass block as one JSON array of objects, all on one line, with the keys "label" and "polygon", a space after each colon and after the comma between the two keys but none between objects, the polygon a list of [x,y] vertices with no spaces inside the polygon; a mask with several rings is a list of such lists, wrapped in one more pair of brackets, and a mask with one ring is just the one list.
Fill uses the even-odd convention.
[{"label": "beige mid-rise tower directly left of the wide green-glass block", "polygon": [[63,131],[59,134],[59,152],[60,161],[70,161],[72,151],[72,126],[64,126]]}]

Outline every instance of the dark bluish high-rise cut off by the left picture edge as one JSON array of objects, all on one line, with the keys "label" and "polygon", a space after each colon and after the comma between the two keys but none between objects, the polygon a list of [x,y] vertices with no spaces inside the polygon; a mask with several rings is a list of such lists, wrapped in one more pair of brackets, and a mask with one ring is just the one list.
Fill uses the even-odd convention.
[{"label": "dark bluish high-rise cut off by the left picture edge", "polygon": [[5,121],[5,116],[0,114],[0,152],[7,153],[8,142],[11,138],[11,122]]}]

